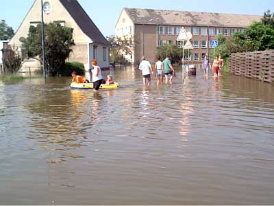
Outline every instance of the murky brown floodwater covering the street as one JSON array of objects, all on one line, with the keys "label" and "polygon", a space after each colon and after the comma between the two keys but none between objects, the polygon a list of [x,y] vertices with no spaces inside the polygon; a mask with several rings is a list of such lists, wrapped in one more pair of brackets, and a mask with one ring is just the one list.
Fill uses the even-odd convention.
[{"label": "murky brown floodwater covering the street", "polygon": [[273,84],[180,70],[143,88],[116,69],[99,95],[0,82],[0,204],[273,205]]}]

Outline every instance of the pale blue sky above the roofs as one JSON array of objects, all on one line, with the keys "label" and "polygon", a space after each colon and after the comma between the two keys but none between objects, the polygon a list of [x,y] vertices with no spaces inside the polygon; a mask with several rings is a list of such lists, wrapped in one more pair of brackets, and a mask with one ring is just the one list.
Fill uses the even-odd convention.
[{"label": "pale blue sky above the roofs", "polygon": [[[46,1],[46,0],[44,0]],[[78,0],[91,19],[105,36],[114,34],[114,27],[122,8],[150,8],[164,10],[184,10],[197,12],[221,12],[235,14],[258,14],[270,9],[274,11],[273,0]],[[0,0],[0,19],[16,31],[21,21],[32,6],[34,0]],[[170,2],[170,3],[169,3]],[[206,3],[205,3],[206,2]],[[3,9],[4,8],[4,9]]]}]

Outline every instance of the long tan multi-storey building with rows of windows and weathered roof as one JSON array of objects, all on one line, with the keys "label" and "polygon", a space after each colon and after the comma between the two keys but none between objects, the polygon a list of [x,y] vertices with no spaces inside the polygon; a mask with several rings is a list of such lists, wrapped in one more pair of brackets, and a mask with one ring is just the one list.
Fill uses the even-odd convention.
[{"label": "long tan multi-storey building with rows of windows and weathered roof", "polygon": [[190,62],[200,62],[210,54],[211,41],[216,40],[219,34],[232,36],[234,32],[242,32],[254,21],[260,21],[262,16],[243,14],[219,14],[206,12],[182,12],[169,10],[147,10],[123,8],[116,23],[116,36],[132,38],[131,54],[125,58],[132,63],[140,62],[144,55],[151,62],[155,60],[156,49],[165,43],[177,43],[177,36],[182,27],[192,33]]}]

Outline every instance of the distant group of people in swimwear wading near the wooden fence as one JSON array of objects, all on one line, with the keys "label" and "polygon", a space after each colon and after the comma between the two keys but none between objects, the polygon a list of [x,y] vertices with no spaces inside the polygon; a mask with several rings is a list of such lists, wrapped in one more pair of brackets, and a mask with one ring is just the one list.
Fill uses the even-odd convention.
[{"label": "distant group of people in swimwear wading near the wooden fence", "polygon": [[203,59],[203,71],[205,72],[205,76],[208,76],[208,70],[209,68],[212,68],[214,71],[214,77],[219,77],[222,74],[223,71],[223,58],[222,56],[216,56],[213,65],[211,67],[210,65],[210,59],[206,55]]}]

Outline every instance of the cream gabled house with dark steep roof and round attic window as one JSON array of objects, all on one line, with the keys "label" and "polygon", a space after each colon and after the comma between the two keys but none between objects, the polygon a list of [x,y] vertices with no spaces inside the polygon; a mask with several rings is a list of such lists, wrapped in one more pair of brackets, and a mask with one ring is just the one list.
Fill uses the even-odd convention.
[{"label": "cream gabled house with dark steep roof and round attic window", "polygon": [[[58,22],[73,28],[75,46],[69,61],[82,62],[86,69],[90,69],[90,60],[96,59],[101,68],[109,68],[110,45],[77,0],[45,0],[43,12],[45,23]],[[27,37],[29,27],[40,23],[41,1],[36,0],[18,27],[10,45],[20,48],[20,39]]]}]

